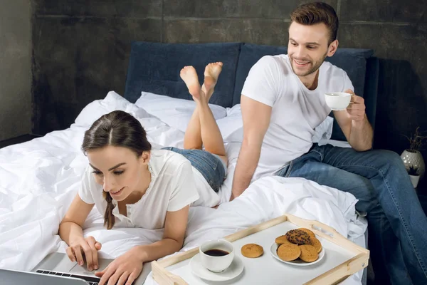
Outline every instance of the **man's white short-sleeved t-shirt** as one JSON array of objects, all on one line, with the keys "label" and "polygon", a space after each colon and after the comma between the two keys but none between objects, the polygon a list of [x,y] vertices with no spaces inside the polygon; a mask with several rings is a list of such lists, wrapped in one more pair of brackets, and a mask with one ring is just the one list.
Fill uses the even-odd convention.
[{"label": "man's white short-sleeved t-shirt", "polygon": [[242,94],[272,107],[252,181],[273,175],[312,147],[315,128],[330,114],[325,93],[354,90],[347,73],[325,61],[318,86],[309,90],[292,71],[288,55],[264,56],[246,78]]}]

